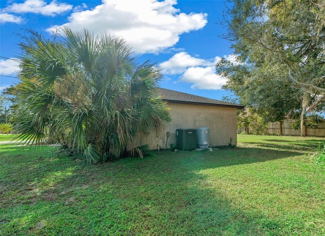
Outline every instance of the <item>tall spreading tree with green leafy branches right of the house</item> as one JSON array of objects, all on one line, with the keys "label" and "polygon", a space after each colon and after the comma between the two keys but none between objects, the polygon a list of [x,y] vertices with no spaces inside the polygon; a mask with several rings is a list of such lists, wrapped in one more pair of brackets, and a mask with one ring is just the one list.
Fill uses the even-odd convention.
[{"label": "tall spreading tree with green leafy branches right of the house", "polygon": [[294,118],[303,130],[306,115],[325,112],[325,1],[229,2],[221,37],[237,61],[223,58],[216,71],[228,78],[223,88],[236,95],[232,102],[246,106],[239,120]]}]

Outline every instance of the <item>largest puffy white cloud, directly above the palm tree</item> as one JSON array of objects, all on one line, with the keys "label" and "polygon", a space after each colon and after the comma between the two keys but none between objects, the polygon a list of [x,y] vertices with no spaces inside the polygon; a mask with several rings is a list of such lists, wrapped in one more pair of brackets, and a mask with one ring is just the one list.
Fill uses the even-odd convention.
[{"label": "largest puffy white cloud, directly above the palm tree", "polygon": [[[157,53],[175,45],[184,32],[207,24],[205,13],[180,13],[174,0],[103,0],[92,10],[72,13],[68,27],[122,37],[138,53]],[[58,28],[55,25],[53,28]]]}]

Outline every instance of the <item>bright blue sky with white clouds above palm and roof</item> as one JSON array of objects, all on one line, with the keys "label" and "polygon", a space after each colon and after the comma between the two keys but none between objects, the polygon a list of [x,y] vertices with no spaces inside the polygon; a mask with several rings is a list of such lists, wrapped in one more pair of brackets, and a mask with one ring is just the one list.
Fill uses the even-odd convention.
[{"label": "bright blue sky with white clouds above palm and roof", "polygon": [[225,30],[217,24],[224,1],[0,0],[0,8],[0,90],[17,82],[16,33],[28,28],[47,35],[67,24],[124,38],[139,62],[157,62],[163,88],[218,100],[227,94],[226,78],[214,69],[221,57],[233,58],[230,42],[218,37]]}]

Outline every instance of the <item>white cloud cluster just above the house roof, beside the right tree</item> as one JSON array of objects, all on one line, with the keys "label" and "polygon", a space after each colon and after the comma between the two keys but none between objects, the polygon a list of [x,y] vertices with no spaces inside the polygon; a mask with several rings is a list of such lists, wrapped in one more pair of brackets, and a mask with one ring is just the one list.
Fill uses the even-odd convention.
[{"label": "white cloud cluster just above the house roof, beside the right tree", "polygon": [[[225,55],[226,59],[236,62],[236,55]],[[221,89],[227,79],[215,72],[215,64],[221,59],[216,56],[212,59],[201,59],[190,56],[186,52],[179,52],[169,60],[159,64],[162,72],[167,75],[180,75],[177,82],[191,83],[191,88]]]}]

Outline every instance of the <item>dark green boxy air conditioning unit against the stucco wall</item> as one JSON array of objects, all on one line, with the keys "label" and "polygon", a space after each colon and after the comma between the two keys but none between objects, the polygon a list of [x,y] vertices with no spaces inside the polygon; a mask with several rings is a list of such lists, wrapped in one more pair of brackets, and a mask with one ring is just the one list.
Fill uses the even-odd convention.
[{"label": "dark green boxy air conditioning unit against the stucco wall", "polygon": [[176,147],[180,150],[197,149],[197,130],[192,128],[176,129]]}]

